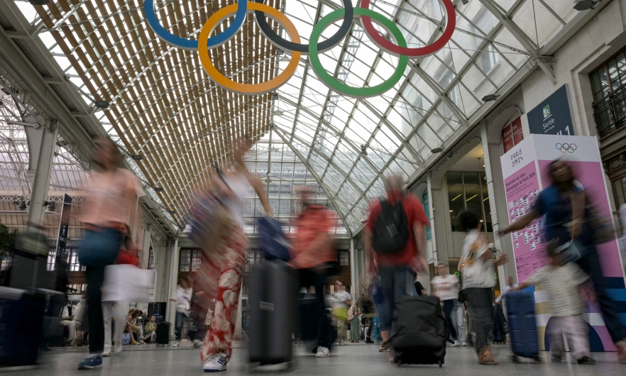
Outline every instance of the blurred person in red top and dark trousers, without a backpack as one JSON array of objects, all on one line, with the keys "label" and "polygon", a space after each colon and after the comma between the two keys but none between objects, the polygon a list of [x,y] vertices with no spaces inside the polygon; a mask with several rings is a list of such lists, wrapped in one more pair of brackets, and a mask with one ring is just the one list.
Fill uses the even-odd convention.
[{"label": "blurred person in red top and dark trousers, without a backpack", "polygon": [[[297,271],[300,287],[314,287],[315,302],[310,317],[300,316],[300,338],[317,350],[317,358],[327,358],[335,333],[324,304],[326,279],[339,270],[331,231],[335,214],[326,206],[315,204],[314,191],[309,186],[299,188],[302,212],[295,221],[290,265]],[[308,349],[307,349],[308,350]]]}]

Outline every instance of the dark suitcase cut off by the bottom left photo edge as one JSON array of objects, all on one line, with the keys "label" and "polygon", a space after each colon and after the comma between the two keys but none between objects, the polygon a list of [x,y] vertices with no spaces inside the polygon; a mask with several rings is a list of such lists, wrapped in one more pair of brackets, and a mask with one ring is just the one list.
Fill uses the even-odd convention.
[{"label": "dark suitcase cut off by the bottom left photo edge", "polygon": [[0,365],[33,365],[43,329],[45,296],[0,287]]}]

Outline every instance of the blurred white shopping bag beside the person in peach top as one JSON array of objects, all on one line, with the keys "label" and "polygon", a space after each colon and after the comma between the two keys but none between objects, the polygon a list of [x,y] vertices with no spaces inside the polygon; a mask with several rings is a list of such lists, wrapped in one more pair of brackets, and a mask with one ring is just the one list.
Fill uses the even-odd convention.
[{"label": "blurred white shopping bag beside the person in peach top", "polygon": [[154,288],[154,270],[133,265],[108,265],[104,268],[102,302],[148,302]]}]

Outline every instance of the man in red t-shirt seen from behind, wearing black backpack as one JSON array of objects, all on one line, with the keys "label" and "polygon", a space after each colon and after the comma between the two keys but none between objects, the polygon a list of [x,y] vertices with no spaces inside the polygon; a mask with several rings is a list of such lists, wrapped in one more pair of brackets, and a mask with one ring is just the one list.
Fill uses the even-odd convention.
[{"label": "man in red t-shirt seen from behind, wearing black backpack", "polygon": [[385,302],[379,309],[378,319],[383,345],[380,351],[389,351],[388,345],[396,302],[409,294],[416,272],[426,270],[424,258],[426,250],[425,226],[429,225],[422,203],[412,194],[402,194],[402,178],[392,175],[385,179],[387,201],[393,206],[402,202],[407,215],[409,237],[405,246],[392,254],[377,253],[372,247],[373,231],[383,206],[375,202],[365,227],[366,271],[370,277],[378,274],[385,296]]}]

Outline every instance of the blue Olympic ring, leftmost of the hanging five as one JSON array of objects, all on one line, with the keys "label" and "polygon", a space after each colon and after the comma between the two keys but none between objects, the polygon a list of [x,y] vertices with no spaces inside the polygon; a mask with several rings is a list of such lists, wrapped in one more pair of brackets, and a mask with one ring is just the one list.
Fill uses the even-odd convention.
[{"label": "blue Olympic ring, leftmost of the hanging five", "polygon": [[[246,21],[246,13],[248,13],[248,0],[239,0],[237,5],[237,13],[235,14],[233,23],[231,23],[226,30],[222,31],[218,35],[215,35],[214,37],[209,38],[209,40],[207,40],[207,48],[215,48],[226,43],[239,31],[239,28],[243,25],[243,21]],[[148,20],[150,28],[152,28],[156,35],[158,35],[158,37],[165,43],[182,48],[183,50],[195,51],[198,49],[197,40],[180,38],[161,26],[154,11],[154,0],[145,0],[143,9],[145,9],[145,19]]]}]

